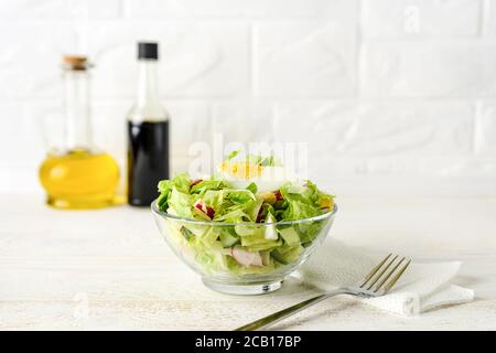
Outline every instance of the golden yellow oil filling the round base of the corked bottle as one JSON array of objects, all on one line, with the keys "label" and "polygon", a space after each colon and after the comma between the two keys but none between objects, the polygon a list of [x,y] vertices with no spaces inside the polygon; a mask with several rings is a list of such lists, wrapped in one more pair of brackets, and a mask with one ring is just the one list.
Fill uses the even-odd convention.
[{"label": "golden yellow oil filling the round base of the corked bottle", "polygon": [[40,168],[47,203],[57,208],[96,208],[114,204],[119,167],[107,153],[75,149],[48,153]]}]

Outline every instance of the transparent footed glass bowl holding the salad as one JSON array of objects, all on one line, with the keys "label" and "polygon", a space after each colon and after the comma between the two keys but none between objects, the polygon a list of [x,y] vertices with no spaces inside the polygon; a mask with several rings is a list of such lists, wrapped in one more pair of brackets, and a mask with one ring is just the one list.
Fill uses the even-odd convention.
[{"label": "transparent footed glass bowl holding the salad", "polygon": [[[261,295],[279,289],[284,277],[299,268],[322,244],[337,206],[316,217],[272,224],[181,218],[159,211],[157,201],[151,210],[165,242],[202,276],[205,286],[231,295]],[[234,239],[229,235],[233,234],[242,234],[242,243],[229,246],[229,239]],[[258,247],[267,247],[263,243],[266,234],[277,237],[272,242],[280,245],[270,253],[260,250],[260,257],[252,255]],[[299,237],[298,242],[294,236]],[[285,239],[294,245],[288,246]],[[300,242],[302,245],[299,246]]]}]

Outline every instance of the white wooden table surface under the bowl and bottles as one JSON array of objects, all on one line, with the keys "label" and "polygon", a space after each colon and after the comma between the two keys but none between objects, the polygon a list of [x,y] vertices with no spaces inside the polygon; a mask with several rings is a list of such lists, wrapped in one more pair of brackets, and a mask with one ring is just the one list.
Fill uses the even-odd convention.
[{"label": "white wooden table surface under the bowl and bottles", "polygon": [[[324,301],[280,330],[496,330],[496,199],[341,199],[330,236],[421,259],[461,259],[474,302],[417,318],[352,298]],[[40,196],[0,195],[0,329],[229,330],[315,293],[203,287],[169,250],[148,210],[61,212]]]}]

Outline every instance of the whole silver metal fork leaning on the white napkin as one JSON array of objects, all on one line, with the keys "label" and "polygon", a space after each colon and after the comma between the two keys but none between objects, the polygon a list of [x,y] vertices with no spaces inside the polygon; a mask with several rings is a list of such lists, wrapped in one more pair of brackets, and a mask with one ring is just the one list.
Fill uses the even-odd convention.
[{"label": "whole silver metal fork leaning on the white napkin", "polygon": [[403,275],[410,259],[406,257],[399,257],[398,255],[389,254],[386,256],[363,279],[363,281],[349,286],[339,288],[324,295],[308,299],[292,307],[285,308],[281,311],[274,312],[268,317],[261,318],[257,321],[248,323],[244,327],[237,328],[235,331],[255,331],[266,328],[270,324],[289,318],[296,312],[302,311],[322,300],[337,296],[337,295],[351,295],[362,298],[380,297],[386,295]]}]

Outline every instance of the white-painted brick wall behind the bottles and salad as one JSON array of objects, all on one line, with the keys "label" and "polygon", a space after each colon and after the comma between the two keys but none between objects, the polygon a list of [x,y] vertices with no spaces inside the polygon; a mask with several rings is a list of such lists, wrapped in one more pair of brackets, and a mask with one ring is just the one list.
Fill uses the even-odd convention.
[{"label": "white-painted brick wall behind the bottles and salad", "polygon": [[308,142],[338,194],[496,194],[496,0],[2,0],[0,190],[40,191],[39,125],[76,50],[96,140],[123,160],[142,39],[161,43],[176,171],[223,133]]}]

